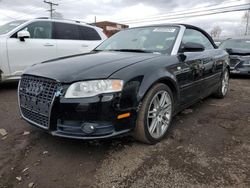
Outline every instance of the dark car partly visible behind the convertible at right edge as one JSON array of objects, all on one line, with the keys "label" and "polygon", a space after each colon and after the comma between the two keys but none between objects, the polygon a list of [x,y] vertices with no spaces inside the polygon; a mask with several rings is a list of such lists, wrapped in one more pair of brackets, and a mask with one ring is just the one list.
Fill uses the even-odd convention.
[{"label": "dark car partly visible behind the convertible at right edge", "polygon": [[230,73],[250,75],[250,37],[225,40],[220,48],[230,55]]}]

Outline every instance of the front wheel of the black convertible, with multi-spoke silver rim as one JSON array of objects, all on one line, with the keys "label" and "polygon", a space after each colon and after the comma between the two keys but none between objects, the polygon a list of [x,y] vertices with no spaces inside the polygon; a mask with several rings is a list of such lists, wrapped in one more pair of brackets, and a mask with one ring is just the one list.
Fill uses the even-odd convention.
[{"label": "front wheel of the black convertible, with multi-spoke silver rim", "polygon": [[142,101],[133,132],[134,138],[146,144],[159,142],[171,123],[173,102],[172,91],[167,85],[154,85]]}]

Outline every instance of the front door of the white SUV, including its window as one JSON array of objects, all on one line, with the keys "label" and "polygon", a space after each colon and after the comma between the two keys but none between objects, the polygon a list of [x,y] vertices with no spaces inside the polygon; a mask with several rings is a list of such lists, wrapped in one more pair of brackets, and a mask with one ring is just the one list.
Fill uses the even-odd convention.
[{"label": "front door of the white SUV, including its window", "polygon": [[52,39],[50,21],[36,21],[21,30],[30,33],[30,38],[21,41],[17,32],[7,39],[9,66],[12,75],[21,75],[33,64],[56,58],[56,43]]}]

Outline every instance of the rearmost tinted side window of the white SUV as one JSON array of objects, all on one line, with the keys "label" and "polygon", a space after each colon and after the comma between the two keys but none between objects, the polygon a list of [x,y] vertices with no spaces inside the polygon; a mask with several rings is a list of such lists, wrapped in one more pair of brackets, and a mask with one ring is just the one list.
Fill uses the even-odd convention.
[{"label": "rearmost tinted side window of the white SUV", "polygon": [[79,26],[80,40],[101,40],[97,31],[91,27]]}]

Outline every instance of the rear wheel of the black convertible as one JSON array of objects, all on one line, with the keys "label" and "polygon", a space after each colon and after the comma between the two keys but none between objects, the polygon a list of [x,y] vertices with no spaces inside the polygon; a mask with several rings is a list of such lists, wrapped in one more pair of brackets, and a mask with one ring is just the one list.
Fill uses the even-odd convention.
[{"label": "rear wheel of the black convertible", "polygon": [[214,93],[215,97],[222,99],[227,95],[229,87],[229,71],[226,69],[223,74],[220,81],[220,85],[216,92]]}]

